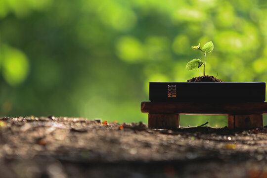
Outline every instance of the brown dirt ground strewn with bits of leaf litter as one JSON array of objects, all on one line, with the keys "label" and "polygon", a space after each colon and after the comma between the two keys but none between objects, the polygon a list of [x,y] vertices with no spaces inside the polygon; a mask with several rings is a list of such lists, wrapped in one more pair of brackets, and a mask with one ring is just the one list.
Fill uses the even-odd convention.
[{"label": "brown dirt ground strewn with bits of leaf litter", "polygon": [[0,118],[1,178],[267,178],[267,128]]}]

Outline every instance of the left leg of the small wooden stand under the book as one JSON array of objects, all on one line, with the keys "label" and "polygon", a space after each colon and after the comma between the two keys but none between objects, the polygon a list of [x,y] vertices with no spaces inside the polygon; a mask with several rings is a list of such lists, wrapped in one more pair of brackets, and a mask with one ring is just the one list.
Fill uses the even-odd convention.
[{"label": "left leg of the small wooden stand under the book", "polygon": [[179,114],[148,114],[149,128],[179,128]]}]

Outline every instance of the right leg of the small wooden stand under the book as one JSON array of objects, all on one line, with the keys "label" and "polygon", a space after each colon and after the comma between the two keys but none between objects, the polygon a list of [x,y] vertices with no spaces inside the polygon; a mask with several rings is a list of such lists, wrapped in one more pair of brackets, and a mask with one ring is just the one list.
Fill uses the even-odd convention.
[{"label": "right leg of the small wooden stand under the book", "polygon": [[256,128],[263,127],[262,114],[228,115],[228,128]]}]

